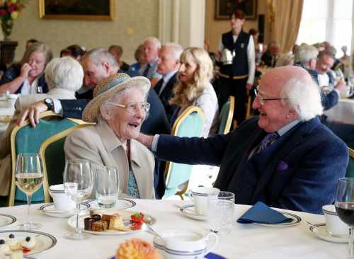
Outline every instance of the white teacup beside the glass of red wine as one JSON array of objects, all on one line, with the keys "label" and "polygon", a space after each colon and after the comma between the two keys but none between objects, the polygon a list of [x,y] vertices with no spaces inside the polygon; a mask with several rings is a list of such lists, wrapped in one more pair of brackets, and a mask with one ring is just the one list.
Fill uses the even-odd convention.
[{"label": "white teacup beside the glass of red wine", "polygon": [[327,230],[333,234],[348,234],[348,226],[339,219],[334,205],[324,205],[322,207],[324,217],[326,218]]}]

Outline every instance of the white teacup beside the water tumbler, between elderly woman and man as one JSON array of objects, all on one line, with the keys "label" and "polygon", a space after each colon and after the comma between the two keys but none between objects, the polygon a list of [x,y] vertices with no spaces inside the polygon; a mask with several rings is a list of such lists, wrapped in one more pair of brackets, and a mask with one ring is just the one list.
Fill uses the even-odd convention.
[{"label": "white teacup beside the water tumbler, between elderly woman and man", "polygon": [[207,214],[207,205],[210,198],[216,198],[220,190],[212,187],[197,187],[190,191],[193,196],[195,212],[200,215]]}]

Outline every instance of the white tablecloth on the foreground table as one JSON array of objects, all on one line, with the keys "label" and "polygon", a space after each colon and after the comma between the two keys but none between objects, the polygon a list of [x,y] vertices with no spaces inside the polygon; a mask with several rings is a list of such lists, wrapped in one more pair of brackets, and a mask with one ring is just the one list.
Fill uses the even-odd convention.
[{"label": "white tablecloth on the foreground table", "polygon": [[[207,232],[207,222],[196,221],[184,217],[179,212],[180,201],[162,200],[135,200],[136,207],[129,210],[150,214],[156,218],[154,229],[158,232],[169,229],[188,229]],[[57,238],[57,245],[48,251],[34,255],[35,258],[108,258],[115,253],[118,244],[127,238],[137,237],[152,242],[153,236],[146,232],[139,232],[128,236],[91,236],[84,241],[72,241],[64,238],[64,233],[70,231],[67,219],[48,217],[38,210],[40,205],[33,205],[33,220],[42,223],[44,231]],[[237,218],[249,206],[236,205]],[[2,214],[12,214],[18,222],[26,218],[26,207],[0,208]],[[324,216],[293,212],[302,217],[302,223],[296,226],[276,227],[260,226],[256,224],[237,224],[232,233],[221,238],[219,245],[213,252],[226,258],[346,258],[347,244],[331,243],[313,236],[304,220],[313,223],[324,222]],[[13,225],[16,225],[13,224]],[[12,226],[13,228],[13,226]],[[11,229],[11,226],[8,227]],[[1,229],[4,230],[4,229]]]}]

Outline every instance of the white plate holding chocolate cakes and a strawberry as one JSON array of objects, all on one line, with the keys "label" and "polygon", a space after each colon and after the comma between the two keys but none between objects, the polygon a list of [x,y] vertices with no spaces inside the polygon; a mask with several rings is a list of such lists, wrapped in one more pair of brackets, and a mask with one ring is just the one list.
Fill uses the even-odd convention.
[{"label": "white plate holding chocolate cakes and a strawberry", "polygon": [[[102,211],[103,212],[103,211]],[[113,210],[110,210],[109,211],[109,214],[112,214]],[[131,226],[131,223],[130,223],[130,216],[132,214],[136,214],[138,212],[128,212],[128,211],[125,211],[125,210],[121,210],[121,211],[117,211],[117,213],[119,213],[121,216],[122,216],[122,219],[123,219],[123,224],[125,225],[125,227],[129,228],[129,226]],[[107,213],[108,214],[108,213]],[[144,214],[145,217],[144,217],[144,221],[146,224],[149,224],[149,225],[152,225],[155,223],[155,219],[154,217],[152,216],[149,216],[147,214]],[[86,217],[89,217],[89,214],[85,215],[85,216],[81,216],[79,218],[79,228],[83,231],[83,232],[86,232],[86,233],[90,233],[90,234],[93,234],[93,235],[103,235],[103,236],[122,236],[122,235],[128,235],[128,234],[132,234],[132,233],[137,233],[139,231],[142,231],[142,229],[138,229],[138,230],[131,230],[131,229],[127,229],[127,231],[115,231],[115,230],[107,230],[107,231],[90,231],[90,230],[85,230],[84,229],[84,219]],[[68,219],[68,224],[69,226],[71,226],[73,229],[76,228],[76,215],[75,216],[72,216],[72,217],[69,217]]]}]

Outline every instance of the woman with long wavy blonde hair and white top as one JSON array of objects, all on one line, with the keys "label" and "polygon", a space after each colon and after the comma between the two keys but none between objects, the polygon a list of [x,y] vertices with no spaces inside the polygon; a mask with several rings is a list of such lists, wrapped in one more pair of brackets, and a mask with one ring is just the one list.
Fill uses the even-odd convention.
[{"label": "woman with long wavy blonde hair and white top", "polygon": [[[198,106],[205,114],[205,126],[202,137],[207,137],[217,118],[218,104],[210,79],[212,79],[212,59],[200,47],[190,47],[181,54],[181,65],[178,69],[178,83],[173,90],[171,105],[180,108],[171,118],[171,125],[185,108]],[[215,132],[211,132],[215,133]]]}]

